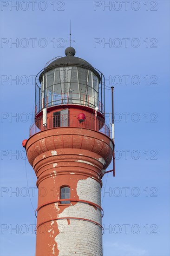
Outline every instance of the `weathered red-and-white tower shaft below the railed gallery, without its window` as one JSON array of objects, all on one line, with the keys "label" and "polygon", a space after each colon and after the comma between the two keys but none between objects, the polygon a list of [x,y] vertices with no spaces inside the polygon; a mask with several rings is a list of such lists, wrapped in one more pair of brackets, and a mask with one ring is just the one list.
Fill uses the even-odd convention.
[{"label": "weathered red-and-white tower shaft below the railed gallery, without its window", "polygon": [[[60,188],[69,186],[72,200],[101,205],[101,178],[111,162],[111,139],[84,128],[47,129],[29,138],[26,152],[39,189],[36,256],[102,256],[102,230],[94,224],[101,224],[101,210],[88,203],[56,201]],[[67,219],[57,219],[61,217]]]}]

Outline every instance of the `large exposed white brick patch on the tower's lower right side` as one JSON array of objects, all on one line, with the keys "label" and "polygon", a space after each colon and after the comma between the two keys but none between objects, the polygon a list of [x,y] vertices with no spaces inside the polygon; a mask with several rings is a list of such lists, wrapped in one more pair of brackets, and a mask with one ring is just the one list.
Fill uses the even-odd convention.
[{"label": "large exposed white brick patch on the tower's lower right side", "polygon": [[[94,191],[95,188],[95,191]],[[100,194],[101,185],[95,179],[91,177],[83,180],[79,180],[77,183],[77,196],[80,200],[92,201],[98,205],[101,205],[101,194]],[[75,197],[75,196],[74,196]],[[75,205],[65,208],[59,214],[59,218],[67,217],[68,219],[57,220],[59,233],[57,236],[54,234],[54,240],[57,244],[57,249],[59,250],[58,256],[63,255],[74,255],[75,252],[86,252],[86,255],[98,255],[102,256],[102,234],[101,228],[95,226],[91,222],[83,222],[78,220],[69,220],[69,216],[74,216],[76,218],[81,217],[85,219],[91,219],[95,222],[101,224],[101,211],[97,207],[94,207],[89,204],[76,203]],[[89,241],[89,233],[85,230],[90,230],[92,232],[92,243],[78,243],[77,241]],[[64,239],[63,239],[64,234]],[[90,233],[91,234],[91,233]],[[72,243],[70,247],[66,247],[68,239],[72,237]],[[76,240],[78,238],[78,240]],[[83,244],[83,248],[82,248]],[[92,248],[93,252],[92,253]],[[56,249],[56,248],[55,248]],[[56,253],[56,252],[55,252]],[[79,254],[79,255],[80,255]]]}]

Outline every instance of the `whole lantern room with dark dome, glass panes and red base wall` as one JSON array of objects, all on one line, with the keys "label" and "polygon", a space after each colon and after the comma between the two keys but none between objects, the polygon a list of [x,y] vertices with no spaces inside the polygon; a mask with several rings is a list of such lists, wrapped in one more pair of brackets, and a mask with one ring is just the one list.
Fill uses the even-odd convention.
[{"label": "whole lantern room with dark dome, glass panes and red base wall", "polygon": [[[36,76],[35,123],[30,135],[56,127],[105,128],[105,78],[67,47]],[[82,116],[84,116],[82,118]],[[81,117],[81,118],[80,118]]]}]

